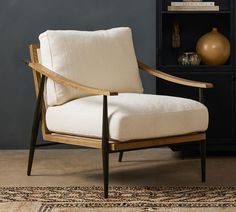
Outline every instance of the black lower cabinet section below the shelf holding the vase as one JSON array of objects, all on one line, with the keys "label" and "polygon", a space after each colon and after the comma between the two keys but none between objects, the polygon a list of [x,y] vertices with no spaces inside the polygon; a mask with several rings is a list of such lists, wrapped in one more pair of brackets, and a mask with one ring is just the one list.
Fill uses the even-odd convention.
[{"label": "black lower cabinet section below the shelf holding the vase", "polygon": [[[204,89],[205,105],[209,109],[208,143],[236,145],[235,83],[231,73],[181,73],[176,76],[211,82],[213,89]],[[198,100],[198,89],[157,80],[157,94]],[[230,147],[231,148],[231,147]]]}]

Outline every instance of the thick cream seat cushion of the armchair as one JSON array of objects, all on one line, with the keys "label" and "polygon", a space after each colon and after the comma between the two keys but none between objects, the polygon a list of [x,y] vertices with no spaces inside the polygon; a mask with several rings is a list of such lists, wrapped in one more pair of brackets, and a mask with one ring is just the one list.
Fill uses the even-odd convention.
[{"label": "thick cream seat cushion of the armchair", "polygon": [[[102,96],[89,96],[47,109],[51,132],[102,135]],[[123,93],[108,97],[110,138],[118,141],[158,138],[206,131],[207,108],[194,100]]]}]

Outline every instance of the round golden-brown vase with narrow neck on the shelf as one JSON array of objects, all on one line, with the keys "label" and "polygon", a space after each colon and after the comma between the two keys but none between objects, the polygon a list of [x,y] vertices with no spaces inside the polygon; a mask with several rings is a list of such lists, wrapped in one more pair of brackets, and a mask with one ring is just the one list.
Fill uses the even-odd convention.
[{"label": "round golden-brown vase with narrow neck on the shelf", "polygon": [[217,28],[213,28],[198,40],[196,51],[203,64],[223,65],[230,57],[230,42]]}]

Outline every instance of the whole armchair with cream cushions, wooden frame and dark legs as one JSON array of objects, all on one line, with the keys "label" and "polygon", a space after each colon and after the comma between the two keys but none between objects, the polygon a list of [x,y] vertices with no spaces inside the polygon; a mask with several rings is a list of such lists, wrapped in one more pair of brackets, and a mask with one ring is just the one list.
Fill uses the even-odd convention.
[{"label": "whole armchair with cream cushions, wooden frame and dark legs", "polygon": [[[200,102],[143,94],[139,69],[199,89],[210,83],[177,78],[137,61],[130,28],[94,32],[46,31],[30,45],[36,109],[28,175],[40,122],[45,141],[102,149],[104,196],[109,154],[184,142],[200,142],[205,181],[208,110]],[[49,143],[50,144],[50,143]]]}]

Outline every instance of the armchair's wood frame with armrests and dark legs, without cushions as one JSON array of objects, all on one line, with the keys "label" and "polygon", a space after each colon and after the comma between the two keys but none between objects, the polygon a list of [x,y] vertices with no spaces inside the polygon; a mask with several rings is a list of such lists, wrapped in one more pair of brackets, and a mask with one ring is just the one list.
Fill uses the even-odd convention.
[{"label": "armchair's wood frame with armrests and dark legs, without cushions", "polygon": [[[77,82],[74,82],[72,80],[66,79],[65,77],[47,69],[43,65],[39,64],[38,51],[37,51],[39,48],[40,47],[38,44],[32,44],[29,46],[31,61],[27,63],[27,65],[31,67],[33,71],[35,93],[37,97],[36,107],[35,107],[35,112],[34,112],[34,119],[33,119],[33,126],[32,126],[32,133],[31,133],[30,153],[29,153],[28,170],[27,170],[28,175],[31,174],[35,148],[42,146],[42,145],[36,144],[38,130],[41,123],[42,135],[45,141],[102,149],[104,197],[105,198],[108,197],[109,154],[115,153],[115,152],[120,152],[119,161],[121,161],[123,152],[125,151],[138,150],[138,149],[144,149],[144,148],[153,148],[153,147],[158,147],[158,146],[187,143],[187,142],[200,142],[202,182],[205,182],[205,179],[206,179],[205,177],[206,175],[206,171],[205,171],[206,169],[206,132],[196,132],[196,133],[191,133],[187,135],[171,136],[171,137],[156,138],[156,139],[131,140],[127,142],[111,141],[109,139],[107,101],[108,101],[108,96],[118,95],[118,92],[88,87],[88,86],[79,84]],[[164,72],[155,70],[141,62],[138,62],[138,65],[141,70],[144,70],[145,72],[153,75],[154,77],[158,77],[172,83],[177,83],[177,84],[181,84],[185,86],[198,88],[200,102],[203,102],[203,89],[213,87],[211,83],[191,81],[191,80],[186,80],[186,79],[182,79],[179,77],[166,74]],[[46,78],[51,78],[57,83],[60,83],[67,87],[71,87],[71,88],[79,89],[81,91],[85,91],[91,94],[103,96],[103,119],[102,119],[103,127],[102,127],[101,139],[54,133],[54,132],[50,132],[47,129],[46,119],[45,119],[46,106],[44,104],[44,98],[43,98],[44,84],[45,84]],[[50,144],[51,143],[48,143],[46,145],[50,145]]]}]

